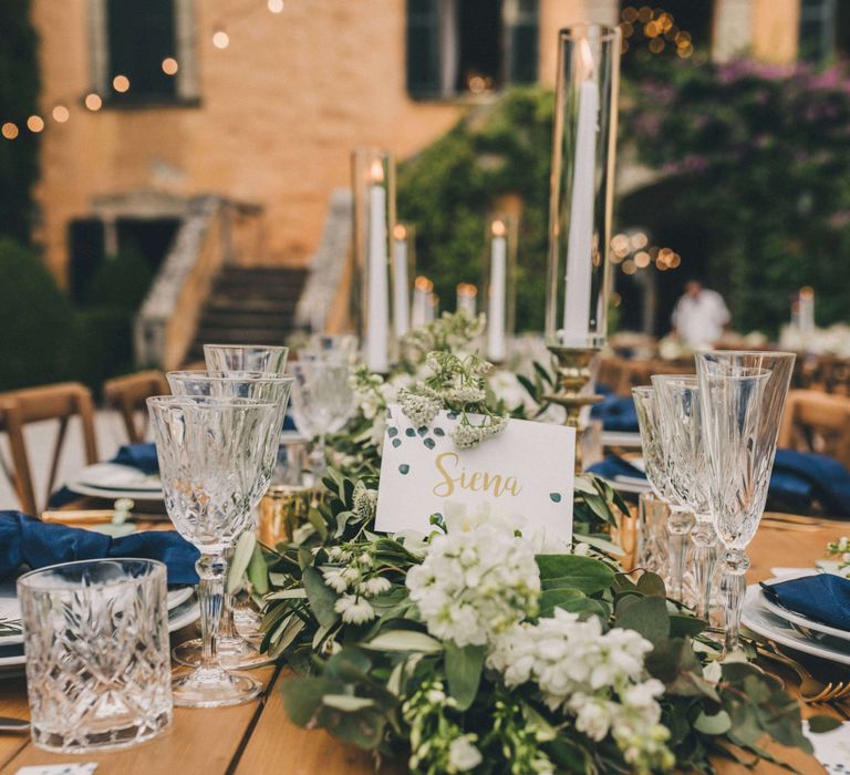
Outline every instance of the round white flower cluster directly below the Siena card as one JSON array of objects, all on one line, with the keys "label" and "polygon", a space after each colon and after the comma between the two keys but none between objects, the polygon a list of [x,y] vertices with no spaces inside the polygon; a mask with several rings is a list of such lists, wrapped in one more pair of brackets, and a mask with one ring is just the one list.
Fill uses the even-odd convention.
[{"label": "round white flower cluster directly below the Siena card", "polygon": [[540,595],[529,542],[490,524],[436,536],[406,583],[428,632],[457,645],[487,643],[533,614]]}]

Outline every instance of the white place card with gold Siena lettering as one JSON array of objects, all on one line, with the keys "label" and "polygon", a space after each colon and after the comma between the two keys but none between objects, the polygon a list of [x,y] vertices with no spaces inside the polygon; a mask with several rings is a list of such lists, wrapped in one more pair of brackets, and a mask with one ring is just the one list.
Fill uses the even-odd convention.
[{"label": "white place card with gold Siena lettering", "polygon": [[456,423],[440,412],[416,427],[401,406],[390,406],[375,528],[427,533],[434,514],[485,508],[517,518],[530,538],[569,542],[576,431],[509,420],[498,435],[459,448],[449,438]]}]

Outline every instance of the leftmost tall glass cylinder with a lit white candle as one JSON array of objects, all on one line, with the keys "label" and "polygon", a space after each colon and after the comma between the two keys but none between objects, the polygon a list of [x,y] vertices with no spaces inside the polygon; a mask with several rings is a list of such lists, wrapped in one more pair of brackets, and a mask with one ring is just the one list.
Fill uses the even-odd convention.
[{"label": "leftmost tall glass cylinder with a lit white candle", "polygon": [[354,188],[353,318],[370,370],[390,370],[392,234],[395,163],[391,153],[359,148],[352,155]]}]

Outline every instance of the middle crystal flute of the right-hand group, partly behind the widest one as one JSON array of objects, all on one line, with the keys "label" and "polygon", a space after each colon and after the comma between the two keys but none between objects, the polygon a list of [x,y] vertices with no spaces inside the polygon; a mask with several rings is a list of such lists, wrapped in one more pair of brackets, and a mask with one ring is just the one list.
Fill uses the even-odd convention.
[{"label": "middle crystal flute of the right-hand group, partly behind the widest one", "polygon": [[703,443],[703,417],[696,376],[655,375],[661,424],[670,454],[670,484],[676,503],[692,512],[696,616],[708,619],[712,578],[717,560],[717,531],[708,506],[708,462]]}]

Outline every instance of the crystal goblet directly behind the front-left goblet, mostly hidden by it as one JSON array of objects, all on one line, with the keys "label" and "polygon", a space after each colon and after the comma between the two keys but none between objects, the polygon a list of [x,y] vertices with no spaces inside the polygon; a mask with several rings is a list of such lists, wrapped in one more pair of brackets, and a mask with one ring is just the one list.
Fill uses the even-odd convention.
[{"label": "crystal goblet directly behind the front-left goblet, mostly hidden by it", "polygon": [[[276,405],[274,422],[271,424],[268,446],[263,455],[263,469],[268,471],[268,478],[263,476],[262,480],[258,480],[258,486],[262,486],[262,482],[266,485],[261,490],[250,495],[250,505],[253,508],[266,494],[268,483],[271,480],[271,471],[277,462],[280,432],[293,378],[256,371],[172,371],[166,376],[174,395],[256,399],[271,401]],[[253,524],[249,525],[249,529],[255,527]],[[226,668],[234,669],[255,668],[268,662],[268,657],[261,654],[237,632],[234,621],[234,596],[226,591],[219,624],[219,661]],[[200,640],[188,640],[175,648],[174,658],[183,664],[195,666],[200,662],[201,650]]]}]

